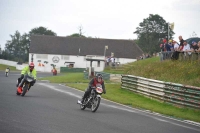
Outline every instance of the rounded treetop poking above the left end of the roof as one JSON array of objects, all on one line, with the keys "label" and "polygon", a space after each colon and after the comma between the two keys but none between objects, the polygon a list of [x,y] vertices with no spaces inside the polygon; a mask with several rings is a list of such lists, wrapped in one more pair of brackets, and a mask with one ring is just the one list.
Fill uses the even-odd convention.
[{"label": "rounded treetop poking above the left end of the roof", "polygon": [[45,27],[38,27],[38,28],[33,28],[30,32],[29,32],[29,36],[31,35],[50,35],[50,36],[57,36],[57,34],[55,32],[53,32],[52,30],[48,30]]}]

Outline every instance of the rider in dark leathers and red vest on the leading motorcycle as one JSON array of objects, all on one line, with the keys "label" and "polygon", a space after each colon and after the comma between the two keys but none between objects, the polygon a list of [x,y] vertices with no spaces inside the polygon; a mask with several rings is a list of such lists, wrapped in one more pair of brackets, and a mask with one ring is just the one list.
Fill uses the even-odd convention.
[{"label": "rider in dark leathers and red vest on the leading motorcycle", "polygon": [[106,89],[105,89],[105,85],[104,85],[104,81],[103,81],[103,76],[101,74],[97,74],[95,78],[93,78],[90,82],[89,82],[89,86],[87,88],[87,90],[85,91],[83,98],[81,100],[81,104],[84,102],[84,99],[91,93],[91,90],[93,87],[96,87],[97,84],[101,84],[102,85],[102,89],[103,89],[103,93],[106,94]]}]

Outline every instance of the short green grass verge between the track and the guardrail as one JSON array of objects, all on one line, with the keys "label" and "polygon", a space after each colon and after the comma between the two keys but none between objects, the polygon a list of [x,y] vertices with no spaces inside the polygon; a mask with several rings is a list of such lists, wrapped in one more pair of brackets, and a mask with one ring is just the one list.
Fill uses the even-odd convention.
[{"label": "short green grass verge between the track and the guardrail", "polygon": [[[42,78],[50,80],[53,83],[65,83],[67,86],[77,88],[84,91],[89,80],[83,79],[83,73],[68,73],[62,76],[54,76]],[[102,95],[103,98],[115,101],[130,107],[146,109],[152,112],[158,112],[167,116],[176,117],[179,119],[187,119],[200,122],[200,110],[178,108],[167,103],[162,103],[142,95],[134,94],[133,92],[121,89],[121,84],[113,84],[105,82],[107,93]]]}]

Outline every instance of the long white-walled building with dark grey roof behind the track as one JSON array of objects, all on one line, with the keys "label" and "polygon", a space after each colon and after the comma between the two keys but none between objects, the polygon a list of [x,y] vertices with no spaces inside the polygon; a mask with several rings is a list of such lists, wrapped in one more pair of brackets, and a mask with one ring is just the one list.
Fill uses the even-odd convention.
[{"label": "long white-walled building with dark grey roof behind the track", "polygon": [[[114,56],[115,62],[125,64],[136,61],[142,50],[132,40],[31,36],[29,62],[37,71],[50,72],[55,66],[88,68],[103,71],[105,57]],[[92,64],[91,64],[92,62]]]}]

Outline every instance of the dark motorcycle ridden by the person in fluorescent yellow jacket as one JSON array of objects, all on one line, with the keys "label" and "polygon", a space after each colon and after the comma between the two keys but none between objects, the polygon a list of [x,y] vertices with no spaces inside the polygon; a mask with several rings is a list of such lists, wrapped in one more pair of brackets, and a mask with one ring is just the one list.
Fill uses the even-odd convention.
[{"label": "dark motorcycle ridden by the person in fluorescent yellow jacket", "polygon": [[[32,85],[32,82],[34,81],[34,78],[32,75],[29,75],[29,74],[26,74],[24,76],[24,78],[22,79],[21,83],[20,84],[23,84],[22,86],[22,93],[19,93],[18,90],[17,90],[17,95],[21,95],[21,96],[24,96],[26,94],[26,92],[31,88],[31,85]],[[19,82],[17,80],[17,82]]]}]

